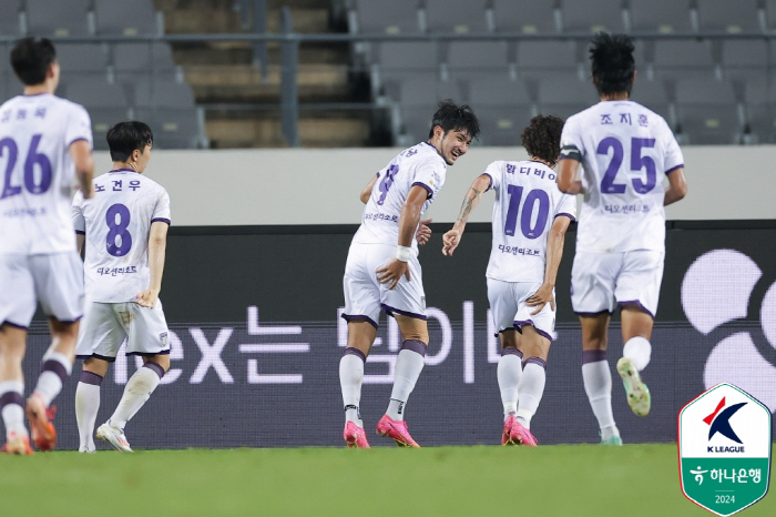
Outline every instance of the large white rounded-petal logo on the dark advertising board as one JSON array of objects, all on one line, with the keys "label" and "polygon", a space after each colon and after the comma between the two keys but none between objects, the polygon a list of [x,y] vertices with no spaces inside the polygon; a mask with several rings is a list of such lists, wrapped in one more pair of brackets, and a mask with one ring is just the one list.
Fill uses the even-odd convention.
[{"label": "large white rounded-petal logo on the dark advertising board", "polygon": [[[752,306],[758,303],[752,295],[762,277],[763,271],[748,255],[735,250],[711,251],[687,268],[682,307],[693,327],[716,342],[704,367],[705,387],[734,384],[774,413],[776,283],[768,286],[759,307]],[[753,331],[751,325],[741,328],[743,322],[752,324],[754,318],[759,330]]]}]

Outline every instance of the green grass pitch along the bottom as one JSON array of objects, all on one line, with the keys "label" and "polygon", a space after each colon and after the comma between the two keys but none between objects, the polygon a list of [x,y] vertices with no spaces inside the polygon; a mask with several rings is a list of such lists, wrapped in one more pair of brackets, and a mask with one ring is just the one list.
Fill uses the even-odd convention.
[{"label": "green grass pitch along the bottom", "polygon": [[[0,515],[706,516],[675,445],[0,456]],[[741,514],[776,515],[768,494]]]}]

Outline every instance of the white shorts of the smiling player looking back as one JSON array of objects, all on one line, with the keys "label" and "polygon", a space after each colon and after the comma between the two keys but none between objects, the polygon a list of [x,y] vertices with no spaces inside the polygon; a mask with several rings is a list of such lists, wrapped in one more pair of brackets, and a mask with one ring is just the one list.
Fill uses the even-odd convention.
[{"label": "white shorts of the smiling player looking back", "polygon": [[343,278],[345,320],[367,318],[375,328],[380,311],[426,320],[426,293],[417,256],[410,255],[408,262],[409,281],[402,276],[396,287],[388,290],[389,284],[377,280],[376,271],[396,257],[396,247],[390,244],[350,244]]}]

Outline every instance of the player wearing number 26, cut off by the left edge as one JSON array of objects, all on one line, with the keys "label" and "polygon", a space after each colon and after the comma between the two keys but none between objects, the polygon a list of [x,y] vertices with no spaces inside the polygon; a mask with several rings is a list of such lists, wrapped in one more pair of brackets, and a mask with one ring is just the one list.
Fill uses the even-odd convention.
[{"label": "player wearing number 26, cut off by the left edge", "polygon": [[[74,178],[92,195],[92,129],[83,107],[54,97],[60,68],[45,38],[24,38],[11,50],[22,95],[0,107],[0,413],[4,450],[51,450],[57,432],[51,402],[73,366],[83,305],[83,271],[68,217]],[[24,405],[22,358],[40,301],[51,346]]]}]

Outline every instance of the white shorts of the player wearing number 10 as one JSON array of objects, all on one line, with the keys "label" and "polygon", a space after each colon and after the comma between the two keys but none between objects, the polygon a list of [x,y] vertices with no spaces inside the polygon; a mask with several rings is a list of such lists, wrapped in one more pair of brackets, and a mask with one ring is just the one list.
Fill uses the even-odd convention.
[{"label": "white shorts of the player wearing number 10", "polygon": [[[496,332],[509,328],[522,328],[524,325],[533,326],[539,334],[550,341],[555,339],[555,311],[548,303],[539,314],[531,314],[537,307],[525,304],[541,283],[535,282],[503,282],[488,278],[488,301],[493,315]],[[554,296],[554,291],[553,291]]]}]

